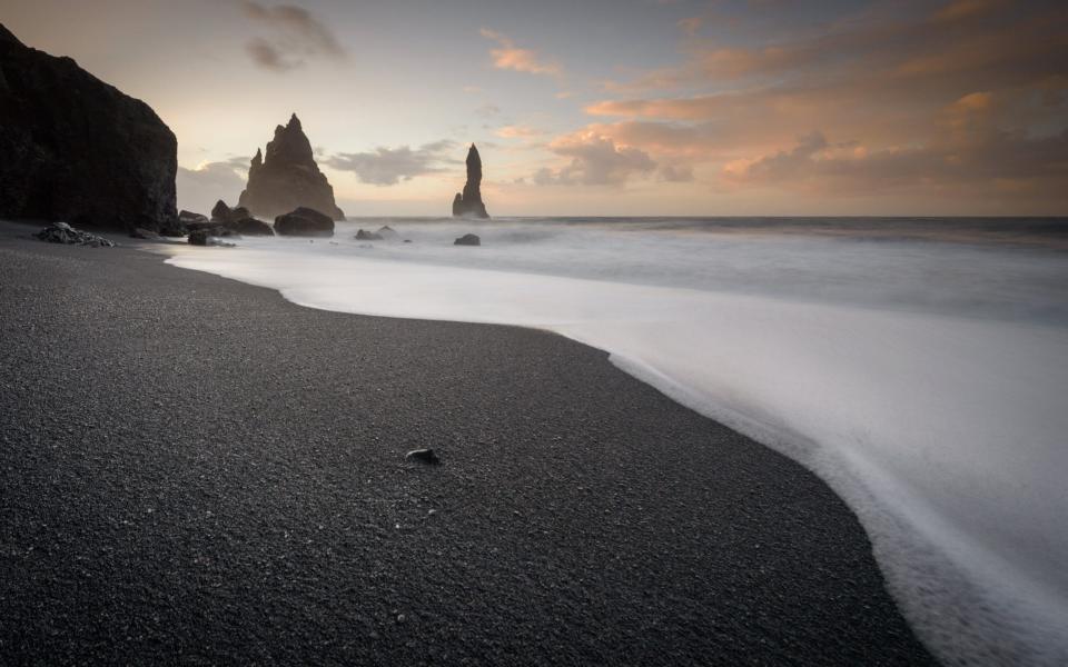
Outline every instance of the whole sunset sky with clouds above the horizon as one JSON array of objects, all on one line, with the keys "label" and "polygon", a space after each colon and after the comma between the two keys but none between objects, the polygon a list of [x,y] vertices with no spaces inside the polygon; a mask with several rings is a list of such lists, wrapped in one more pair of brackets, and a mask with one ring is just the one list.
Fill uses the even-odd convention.
[{"label": "whole sunset sky with clouds above the horizon", "polygon": [[1068,215],[1068,4],[0,0],[148,102],[179,207],[301,119],[349,216]]}]

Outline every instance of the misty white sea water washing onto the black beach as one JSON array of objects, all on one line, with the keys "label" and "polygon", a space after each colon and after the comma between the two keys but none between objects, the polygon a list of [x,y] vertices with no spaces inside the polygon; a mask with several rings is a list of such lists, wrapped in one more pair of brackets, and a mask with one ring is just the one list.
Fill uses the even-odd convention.
[{"label": "misty white sea water washing onto the black beach", "polygon": [[365,218],[238,245],[168,261],[604,349],[830,484],[940,657],[1068,664],[1068,219]]}]

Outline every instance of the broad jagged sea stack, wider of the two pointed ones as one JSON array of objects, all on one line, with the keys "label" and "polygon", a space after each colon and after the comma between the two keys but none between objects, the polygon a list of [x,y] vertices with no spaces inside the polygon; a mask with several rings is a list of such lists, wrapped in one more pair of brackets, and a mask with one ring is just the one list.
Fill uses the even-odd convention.
[{"label": "broad jagged sea stack, wider of the two pointed ones", "polygon": [[237,205],[254,216],[269,219],[299,207],[314,209],[334,220],[345,219],[334,202],[334,188],[315,163],[312,142],[296,113],[287,125],[275,128],[275,138],[267,143],[266,155],[256,150],[248,168],[248,185]]}]

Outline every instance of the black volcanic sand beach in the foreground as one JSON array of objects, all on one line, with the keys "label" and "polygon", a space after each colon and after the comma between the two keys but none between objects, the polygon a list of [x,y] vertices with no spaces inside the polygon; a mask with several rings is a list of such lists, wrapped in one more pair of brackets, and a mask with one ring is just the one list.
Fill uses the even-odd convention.
[{"label": "black volcanic sand beach in the foreground", "polygon": [[931,661],[825,485],[603,352],[0,236],[0,664]]}]

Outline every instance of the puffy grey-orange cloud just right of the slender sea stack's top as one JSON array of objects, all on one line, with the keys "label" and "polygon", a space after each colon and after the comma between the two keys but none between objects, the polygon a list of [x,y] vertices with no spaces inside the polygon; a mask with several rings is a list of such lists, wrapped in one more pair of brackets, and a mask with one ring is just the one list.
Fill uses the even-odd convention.
[{"label": "puffy grey-orange cloud just right of the slender sea stack's top", "polygon": [[645,151],[617,146],[613,139],[591,131],[558,137],[548,149],[571,161],[556,170],[542,168],[535,172],[532,178],[540,186],[622,186],[633,176],[656,169]]}]

